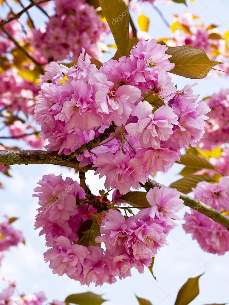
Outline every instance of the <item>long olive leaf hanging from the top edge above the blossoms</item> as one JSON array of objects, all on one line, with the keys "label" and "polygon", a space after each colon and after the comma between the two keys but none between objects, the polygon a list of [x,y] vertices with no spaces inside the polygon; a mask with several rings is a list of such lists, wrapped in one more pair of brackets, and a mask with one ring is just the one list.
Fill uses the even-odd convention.
[{"label": "long olive leaf hanging from the top edge above the blossoms", "polygon": [[121,55],[129,46],[129,11],[122,0],[99,0]]}]

